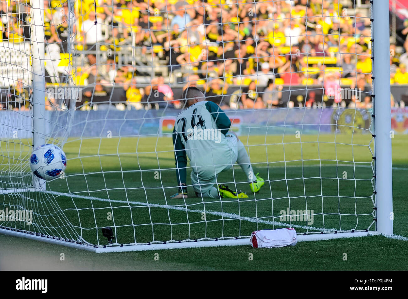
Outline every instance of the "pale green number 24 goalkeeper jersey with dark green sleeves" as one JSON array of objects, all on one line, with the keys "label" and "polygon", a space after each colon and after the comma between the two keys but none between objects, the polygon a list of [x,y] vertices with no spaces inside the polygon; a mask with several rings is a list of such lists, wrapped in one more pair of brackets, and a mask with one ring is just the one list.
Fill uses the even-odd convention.
[{"label": "pale green number 24 goalkeeper jersey with dark green sleeves", "polygon": [[179,185],[186,184],[187,157],[196,172],[230,160],[225,139],[230,126],[224,111],[209,101],[197,102],[177,115],[173,144]]}]

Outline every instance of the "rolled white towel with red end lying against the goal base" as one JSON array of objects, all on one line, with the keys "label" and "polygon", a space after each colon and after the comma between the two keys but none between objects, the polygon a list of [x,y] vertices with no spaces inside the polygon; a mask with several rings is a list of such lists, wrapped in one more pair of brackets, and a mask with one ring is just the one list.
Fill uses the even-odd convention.
[{"label": "rolled white towel with red end lying against the goal base", "polygon": [[249,244],[253,248],[295,246],[296,243],[296,230],[294,228],[257,230],[251,234],[249,239]]}]

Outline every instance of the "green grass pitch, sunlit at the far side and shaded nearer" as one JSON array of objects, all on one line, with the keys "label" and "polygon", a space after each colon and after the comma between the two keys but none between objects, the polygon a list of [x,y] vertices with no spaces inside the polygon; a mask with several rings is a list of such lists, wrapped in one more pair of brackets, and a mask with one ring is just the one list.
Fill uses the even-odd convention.
[{"label": "green grass pitch, sunlit at the far side and shaded nearer", "polygon": [[[259,193],[251,194],[248,184],[242,183],[246,177],[240,168],[222,173],[219,183],[231,187],[235,181],[237,189],[248,194],[248,199],[239,201],[195,197],[191,187],[188,199],[169,199],[177,190],[175,170],[171,169],[174,154],[170,138],[69,140],[64,145],[68,157],[66,177],[47,186],[47,190],[57,193],[30,194],[36,200],[28,203],[42,215],[36,218],[37,229],[73,239],[82,236],[92,244],[103,245],[106,238],[100,228],[105,226],[114,228],[119,244],[134,244],[241,237],[253,230],[289,225],[298,232],[360,230],[373,223],[371,137],[304,135],[299,142],[293,134],[283,138],[245,136],[241,140],[249,145],[255,171],[267,182]],[[404,190],[407,141],[404,135],[392,140],[394,233],[402,236],[408,236]],[[2,164],[7,164],[5,159]],[[16,197],[3,198],[5,205],[16,205]],[[287,208],[313,210],[313,224],[282,223],[279,212]],[[240,218],[236,219],[236,215]],[[375,224],[371,229],[374,227]],[[106,266],[100,255],[90,252],[0,235],[0,267],[7,268],[13,258],[32,255],[38,265],[55,257],[52,267],[56,269],[394,270],[407,269],[406,244],[376,236],[301,242],[295,247],[277,249],[254,249],[248,245],[163,250],[159,261],[154,260],[154,252],[102,254],[117,261]],[[67,259],[59,261],[60,252],[70,257],[69,263]],[[253,261],[248,261],[248,253],[253,253]],[[343,253],[348,254],[348,261],[342,260]],[[78,263],[79,260],[83,262]]]}]

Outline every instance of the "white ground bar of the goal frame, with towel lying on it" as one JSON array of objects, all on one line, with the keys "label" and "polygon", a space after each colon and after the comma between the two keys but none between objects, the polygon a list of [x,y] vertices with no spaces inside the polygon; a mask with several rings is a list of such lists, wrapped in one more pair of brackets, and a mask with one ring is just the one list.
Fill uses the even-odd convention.
[{"label": "white ground bar of the goal frame, with towel lying on it", "polygon": [[[27,238],[35,241],[42,241],[49,244],[62,245],[76,249],[87,250],[95,253],[108,252],[126,252],[126,251],[146,251],[146,250],[163,250],[163,249],[177,249],[177,248],[202,248],[202,247],[219,247],[219,246],[242,246],[249,244],[249,238],[242,239],[227,239],[217,241],[197,241],[197,242],[181,242],[181,243],[166,243],[166,244],[151,244],[151,245],[126,245],[126,246],[108,246],[108,247],[94,247],[85,244],[77,244],[60,239],[53,239],[52,237],[44,237],[39,235],[32,235],[29,233],[22,233],[16,230],[7,230],[0,228],[0,234],[10,235],[13,237]],[[298,235],[297,241],[322,241],[330,239],[342,239],[352,237],[370,237],[379,235],[377,231],[356,232],[356,233],[326,233],[326,234],[310,234]]]}]

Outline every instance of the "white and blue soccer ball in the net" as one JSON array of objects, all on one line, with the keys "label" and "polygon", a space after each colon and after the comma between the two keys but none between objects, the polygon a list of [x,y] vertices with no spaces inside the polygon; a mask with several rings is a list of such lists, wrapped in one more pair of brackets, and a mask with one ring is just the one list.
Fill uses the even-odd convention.
[{"label": "white and blue soccer ball in the net", "polygon": [[30,157],[31,171],[47,181],[60,177],[67,167],[67,156],[54,144],[43,144],[33,150]]}]

